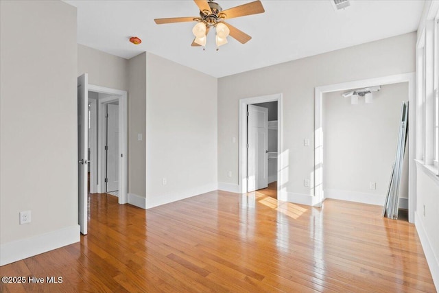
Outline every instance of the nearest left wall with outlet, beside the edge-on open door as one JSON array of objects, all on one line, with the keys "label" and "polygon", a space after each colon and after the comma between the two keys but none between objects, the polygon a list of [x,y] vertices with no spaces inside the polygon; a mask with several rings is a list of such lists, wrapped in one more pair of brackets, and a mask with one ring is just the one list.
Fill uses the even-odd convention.
[{"label": "nearest left wall with outlet, beside the edge-on open door", "polygon": [[[0,264],[78,242],[76,8],[0,1]],[[19,212],[31,211],[19,225]]]}]

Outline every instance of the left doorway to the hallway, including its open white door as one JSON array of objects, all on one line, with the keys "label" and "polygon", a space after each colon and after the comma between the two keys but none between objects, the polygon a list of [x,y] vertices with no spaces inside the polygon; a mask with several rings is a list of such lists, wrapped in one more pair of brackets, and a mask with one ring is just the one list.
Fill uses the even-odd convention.
[{"label": "left doorway to the hallway, including its open white door", "polygon": [[[96,93],[97,99],[88,99],[88,93]],[[99,97],[99,95],[102,96]],[[96,117],[103,117],[104,106],[117,102],[117,130],[118,150],[118,192],[119,204],[127,202],[127,158],[128,158],[128,104],[126,91],[108,89],[102,86],[88,84],[88,74],[84,73],[78,77],[78,224],[81,233],[87,233],[88,218],[88,172],[90,176],[90,191],[104,192],[104,168],[102,162],[105,160],[103,143],[103,123],[99,123]],[[97,105],[97,115],[93,115],[93,105]],[[94,120],[93,120],[94,119]],[[95,123],[97,121],[97,123]],[[97,124],[97,127],[95,127]],[[93,131],[97,130],[97,131]],[[90,132],[90,133],[89,133]],[[90,143],[88,143],[90,135]],[[95,146],[97,142],[97,147]],[[90,165],[90,167],[88,167]],[[97,167],[97,171],[95,170]],[[115,172],[116,173],[116,172]]]}]

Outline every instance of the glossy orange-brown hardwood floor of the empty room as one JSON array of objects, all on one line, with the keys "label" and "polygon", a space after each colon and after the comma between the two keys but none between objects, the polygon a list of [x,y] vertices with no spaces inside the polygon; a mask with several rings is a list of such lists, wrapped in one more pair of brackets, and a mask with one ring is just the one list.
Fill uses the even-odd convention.
[{"label": "glossy orange-brown hardwood floor of the empty room", "polygon": [[81,242],[0,268],[1,292],[436,292],[413,224],[214,191],[147,211],[90,196]]}]

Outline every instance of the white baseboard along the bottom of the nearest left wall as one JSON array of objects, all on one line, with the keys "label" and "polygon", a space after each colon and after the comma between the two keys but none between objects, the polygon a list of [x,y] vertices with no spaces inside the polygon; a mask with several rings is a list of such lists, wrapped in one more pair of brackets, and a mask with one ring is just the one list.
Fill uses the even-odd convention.
[{"label": "white baseboard along the bottom of the nearest left wall", "polygon": [[0,266],[80,242],[80,239],[80,226],[74,225],[57,231],[1,244]]}]

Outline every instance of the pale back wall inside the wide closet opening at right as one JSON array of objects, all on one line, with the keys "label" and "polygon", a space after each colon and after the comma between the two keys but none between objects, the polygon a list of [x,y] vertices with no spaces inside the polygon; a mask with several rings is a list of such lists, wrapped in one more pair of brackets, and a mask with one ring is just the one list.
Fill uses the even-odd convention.
[{"label": "pale back wall inside the wide closet opening at right", "polygon": [[[324,196],[382,205],[395,161],[401,104],[408,101],[408,84],[381,86],[381,91],[373,93],[372,104],[359,97],[359,103],[352,105],[351,97],[342,97],[344,92],[325,93],[322,99]],[[377,189],[370,189],[370,182],[377,183]],[[408,198],[407,188],[408,173],[404,172],[401,198]]]}]

